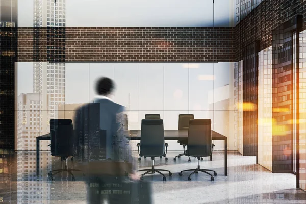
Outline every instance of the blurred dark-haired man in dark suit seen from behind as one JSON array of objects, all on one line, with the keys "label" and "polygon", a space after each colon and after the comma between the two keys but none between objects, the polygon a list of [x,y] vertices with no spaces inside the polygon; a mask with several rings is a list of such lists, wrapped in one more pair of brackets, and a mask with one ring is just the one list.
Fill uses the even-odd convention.
[{"label": "blurred dark-haired man in dark suit seen from behind", "polygon": [[[95,124],[99,123],[99,133],[106,133],[106,160],[93,161],[91,153],[89,158],[83,162],[87,176],[87,202],[88,203],[150,203],[150,187],[147,184],[146,188],[139,188],[139,183],[133,181],[126,182],[124,172],[127,163],[120,163],[118,147],[114,145],[115,135],[120,135],[123,131],[122,120],[124,120],[124,107],[116,104],[110,98],[114,92],[114,82],[109,78],[100,78],[95,87],[97,95],[93,99],[93,103],[89,103],[81,107],[85,117],[78,115],[75,121],[81,121],[77,124],[77,133],[82,133],[81,138],[88,138],[88,133],[95,131]],[[85,110],[84,111],[84,107]],[[80,110],[80,112],[82,112]],[[98,113],[97,113],[98,112]],[[98,117],[96,117],[98,115]],[[86,118],[86,119],[84,119]],[[82,121],[84,120],[84,121]],[[98,122],[97,122],[98,121]],[[86,124],[85,124],[86,123]],[[80,125],[81,124],[81,125]],[[121,131],[121,133],[120,133]],[[80,138],[78,136],[78,138]],[[82,140],[81,139],[81,140]],[[79,139],[80,141],[80,139]],[[88,142],[93,142],[89,139]],[[89,145],[89,149],[82,147],[83,151],[90,151],[91,146],[97,146],[95,143]],[[85,154],[87,155],[87,154]],[[83,154],[84,156],[84,154]],[[82,161],[84,158],[82,158]],[[131,169],[130,169],[131,172]],[[133,174],[134,175],[134,174]],[[136,185],[136,186],[135,186]],[[144,186],[144,185],[141,185]],[[132,190],[134,189],[134,190]],[[137,190],[136,190],[137,189]],[[135,191],[136,190],[136,191]],[[137,194],[135,195],[135,193]],[[133,195],[134,194],[134,195]]]}]

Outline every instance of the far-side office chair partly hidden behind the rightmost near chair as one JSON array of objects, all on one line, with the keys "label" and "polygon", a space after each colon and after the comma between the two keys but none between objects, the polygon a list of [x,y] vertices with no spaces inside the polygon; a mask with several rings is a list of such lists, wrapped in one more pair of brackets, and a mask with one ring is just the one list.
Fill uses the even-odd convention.
[{"label": "far-side office chair partly hidden behind the rightmost near chair", "polygon": [[[188,130],[189,128],[189,120],[190,119],[194,119],[194,115],[193,114],[180,114],[179,115],[179,130]],[[175,156],[173,158],[174,161],[176,161],[176,157],[181,158],[181,156],[188,156],[185,153],[185,147],[187,145],[187,139],[183,139],[183,140],[177,140],[178,143],[180,143],[180,145],[183,145],[183,151],[184,153],[181,153],[177,156]],[[212,148],[215,145],[212,144]],[[201,157],[201,160],[203,160],[203,158]],[[210,160],[212,161],[212,155],[210,156]],[[190,157],[188,156],[188,162],[191,162]]]}]

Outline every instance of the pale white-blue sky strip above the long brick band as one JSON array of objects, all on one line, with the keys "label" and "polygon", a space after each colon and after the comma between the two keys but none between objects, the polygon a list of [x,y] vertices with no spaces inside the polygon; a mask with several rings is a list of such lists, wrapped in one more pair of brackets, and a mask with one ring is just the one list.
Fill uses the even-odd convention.
[{"label": "pale white-blue sky strip above the long brick band", "polygon": [[[33,26],[33,2],[18,0],[19,27]],[[67,27],[230,26],[231,19],[234,0],[214,6],[213,0],[66,0]]]}]

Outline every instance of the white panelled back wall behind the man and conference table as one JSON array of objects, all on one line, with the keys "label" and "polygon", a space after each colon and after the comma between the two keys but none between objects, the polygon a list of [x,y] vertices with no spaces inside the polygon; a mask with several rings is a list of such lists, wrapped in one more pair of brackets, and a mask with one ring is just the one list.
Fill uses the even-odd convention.
[{"label": "white panelled back wall behind the man and conference table", "polygon": [[[228,150],[238,150],[234,63],[18,63],[17,67],[18,150],[35,150],[30,138],[48,133],[50,119],[72,119],[80,105],[93,101],[100,77],[114,80],[110,97],[126,107],[130,130],[140,129],[145,114],[160,114],[165,129],[177,129],[179,114],[194,114],[210,118],[212,129],[228,137]],[[182,150],[176,141],[168,143],[169,150]],[[215,150],[223,150],[221,141],[214,144]]]}]

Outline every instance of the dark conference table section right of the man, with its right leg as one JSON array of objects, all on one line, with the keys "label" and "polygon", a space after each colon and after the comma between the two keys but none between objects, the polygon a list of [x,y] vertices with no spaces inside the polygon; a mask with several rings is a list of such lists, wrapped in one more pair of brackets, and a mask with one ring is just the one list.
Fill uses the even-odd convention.
[{"label": "dark conference table section right of the man, with its right leg", "polygon": [[[129,130],[128,140],[140,140],[141,130]],[[188,130],[164,130],[165,140],[183,140],[188,138]],[[224,174],[227,176],[227,137],[212,131],[212,140],[224,140]]]}]

